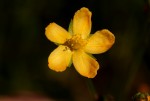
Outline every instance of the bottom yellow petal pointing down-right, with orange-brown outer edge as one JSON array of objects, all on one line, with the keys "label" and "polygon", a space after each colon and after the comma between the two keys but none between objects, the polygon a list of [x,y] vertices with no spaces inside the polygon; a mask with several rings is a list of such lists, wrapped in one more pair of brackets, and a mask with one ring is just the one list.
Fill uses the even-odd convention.
[{"label": "bottom yellow petal pointing down-right, with orange-brown outer edge", "polygon": [[84,51],[78,50],[73,53],[73,64],[75,69],[88,78],[94,78],[99,69],[98,62],[86,54]]}]

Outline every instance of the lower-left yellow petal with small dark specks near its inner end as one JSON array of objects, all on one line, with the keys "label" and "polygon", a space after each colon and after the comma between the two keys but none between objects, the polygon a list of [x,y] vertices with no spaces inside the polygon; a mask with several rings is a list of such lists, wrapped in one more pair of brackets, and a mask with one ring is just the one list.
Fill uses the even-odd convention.
[{"label": "lower-left yellow petal with small dark specks near its inner end", "polygon": [[72,52],[63,45],[58,46],[48,57],[50,69],[61,72],[64,71],[71,61]]}]

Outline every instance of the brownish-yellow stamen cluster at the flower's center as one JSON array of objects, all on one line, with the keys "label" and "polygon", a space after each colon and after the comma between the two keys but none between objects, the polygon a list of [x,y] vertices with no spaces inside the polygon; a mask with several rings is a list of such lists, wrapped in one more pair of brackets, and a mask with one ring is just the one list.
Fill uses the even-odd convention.
[{"label": "brownish-yellow stamen cluster at the flower's center", "polygon": [[81,38],[81,35],[76,34],[73,35],[72,38],[67,39],[67,41],[64,43],[64,45],[66,45],[67,47],[70,48],[70,50],[77,50],[77,49],[81,49],[85,46],[86,44],[86,40]]}]

